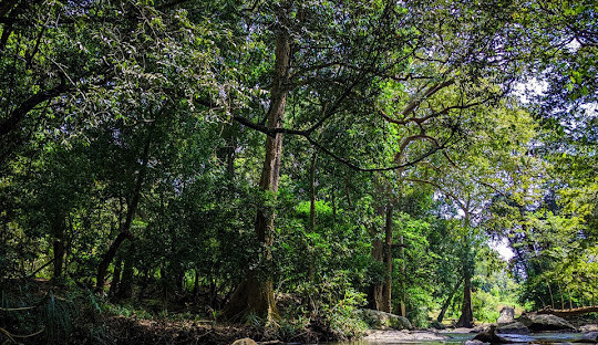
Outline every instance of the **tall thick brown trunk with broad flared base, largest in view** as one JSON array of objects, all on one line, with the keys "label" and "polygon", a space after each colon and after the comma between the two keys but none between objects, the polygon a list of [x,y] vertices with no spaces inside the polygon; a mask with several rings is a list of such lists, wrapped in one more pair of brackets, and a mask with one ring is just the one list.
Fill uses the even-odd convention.
[{"label": "tall thick brown trunk with broad flared base, largest in view", "polygon": [[[268,128],[281,128],[287,103],[287,82],[290,67],[290,36],[286,29],[279,28],[276,33],[276,61],[270,107],[268,109]],[[282,155],[282,134],[268,135],[266,138],[266,159],[261,170],[260,189],[270,191],[274,197],[278,192],[280,178],[280,158]],[[244,281],[237,286],[224,316],[239,320],[248,313],[266,317],[268,321],[278,318],[278,310],[274,296],[272,276],[269,273],[274,243],[275,209],[260,207],[257,210],[255,231],[264,245],[265,262],[261,268],[249,271]]]}]

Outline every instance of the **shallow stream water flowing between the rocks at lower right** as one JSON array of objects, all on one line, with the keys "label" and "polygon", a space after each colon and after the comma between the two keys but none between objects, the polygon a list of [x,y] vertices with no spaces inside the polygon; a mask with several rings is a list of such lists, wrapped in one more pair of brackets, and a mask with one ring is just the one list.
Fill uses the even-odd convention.
[{"label": "shallow stream water flowing between the rocks at lower right", "polygon": [[[398,339],[396,342],[392,339],[384,339],[383,342],[378,341],[359,341],[353,343],[344,343],[342,345],[399,345],[399,344],[409,344],[409,345],[442,345],[442,344],[462,344],[465,341],[472,339],[476,334],[475,333],[443,333],[443,335],[450,336],[445,341],[405,341]],[[512,341],[514,343],[520,344],[530,344],[530,343],[573,343],[579,341],[582,337],[581,333],[532,333],[532,334],[499,334],[502,337]],[[339,344],[338,344],[339,345]]]}]

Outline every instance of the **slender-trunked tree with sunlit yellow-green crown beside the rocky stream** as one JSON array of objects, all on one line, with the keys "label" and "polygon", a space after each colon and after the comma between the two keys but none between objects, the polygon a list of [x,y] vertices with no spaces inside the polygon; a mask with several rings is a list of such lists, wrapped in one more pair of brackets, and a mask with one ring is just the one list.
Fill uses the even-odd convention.
[{"label": "slender-trunked tree with sunlit yellow-green crown beside the rocky stream", "polygon": [[[482,241],[484,212],[493,194],[525,198],[529,178],[537,174],[525,157],[527,145],[534,136],[527,114],[516,107],[503,106],[488,111],[481,119],[480,130],[472,134],[467,148],[454,159],[446,155],[444,166],[430,163],[422,177],[408,180],[433,186],[458,212],[461,219],[454,234],[460,239],[461,273],[463,278],[463,305],[458,326],[473,326],[472,278],[476,247]],[[527,170],[527,174],[525,174]]]}]

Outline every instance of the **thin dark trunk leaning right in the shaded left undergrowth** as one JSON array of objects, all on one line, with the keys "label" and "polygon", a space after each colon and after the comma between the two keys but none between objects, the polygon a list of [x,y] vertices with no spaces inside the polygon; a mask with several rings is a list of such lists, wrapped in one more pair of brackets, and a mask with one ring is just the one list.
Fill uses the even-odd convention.
[{"label": "thin dark trunk leaning right in the shaded left undergrowth", "polygon": [[151,144],[152,144],[152,133],[150,132],[147,136],[147,140],[145,142],[145,146],[143,148],[142,165],[140,167],[140,172],[137,174],[137,180],[135,181],[135,189],[133,190],[133,195],[130,199],[131,202],[127,202],[128,207],[126,210],[125,222],[121,231],[118,232],[118,236],[116,237],[114,242],[112,242],[109,250],[102,258],[100,265],[97,266],[97,274],[95,278],[96,292],[100,292],[104,289],[107,269],[110,264],[112,263],[112,261],[114,260],[114,255],[116,255],[116,251],[118,250],[121,244],[124,242],[124,240],[133,238],[133,234],[131,233],[131,223],[133,222],[133,218],[135,217],[135,212],[137,211],[137,205],[140,203],[141,191],[142,191],[143,182],[145,179],[145,172],[147,170],[147,158],[150,155]]}]

